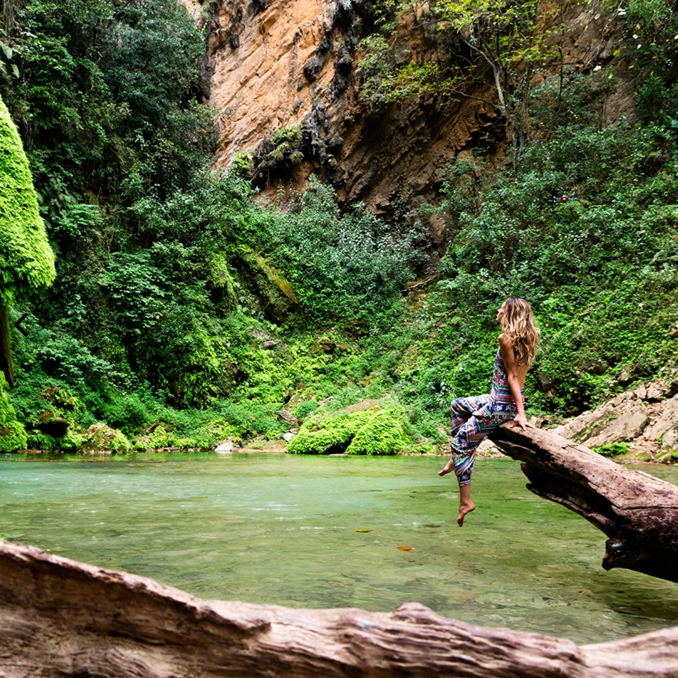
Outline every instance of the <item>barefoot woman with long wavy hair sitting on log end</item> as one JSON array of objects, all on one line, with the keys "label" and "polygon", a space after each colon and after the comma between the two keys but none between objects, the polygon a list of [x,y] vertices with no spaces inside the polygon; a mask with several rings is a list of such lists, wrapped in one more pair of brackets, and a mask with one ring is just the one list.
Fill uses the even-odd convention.
[{"label": "barefoot woman with long wavy hair sitting on log end", "polygon": [[471,473],[475,449],[494,428],[513,419],[511,427],[534,428],[525,419],[525,375],[534,362],[539,330],[534,326],[532,306],[524,299],[507,299],[497,313],[502,325],[494,357],[492,392],[452,401],[452,458],[438,475],[454,471],[459,483],[459,517],[475,509],[471,501]]}]

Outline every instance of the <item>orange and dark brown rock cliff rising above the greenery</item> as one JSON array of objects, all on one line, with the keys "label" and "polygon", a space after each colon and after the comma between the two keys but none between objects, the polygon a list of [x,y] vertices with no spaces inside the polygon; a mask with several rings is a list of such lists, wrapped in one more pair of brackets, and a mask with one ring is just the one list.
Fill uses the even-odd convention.
[{"label": "orange and dark brown rock cliff rising above the greenery", "polygon": [[[505,121],[486,102],[496,100],[490,84],[445,105],[431,96],[370,111],[356,73],[357,44],[374,30],[370,0],[180,1],[207,29],[205,79],[221,112],[216,165],[229,167],[250,151],[264,192],[273,195],[280,183],[303,188],[315,173],[340,201],[361,200],[390,216],[394,201],[435,201],[452,158],[478,146],[490,165],[505,156]],[[427,16],[424,3],[401,20],[395,39],[414,62],[444,62],[449,45]],[[581,5],[566,7],[564,20],[567,64],[589,72],[614,58],[609,21]],[[621,115],[633,118],[633,83],[623,78],[601,121]],[[441,222],[428,225],[434,241],[444,239]]]}]

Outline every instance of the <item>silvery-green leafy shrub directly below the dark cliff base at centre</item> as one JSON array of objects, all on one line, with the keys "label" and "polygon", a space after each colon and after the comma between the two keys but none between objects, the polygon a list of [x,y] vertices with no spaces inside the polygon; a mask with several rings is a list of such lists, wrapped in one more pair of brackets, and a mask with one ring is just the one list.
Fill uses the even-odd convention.
[{"label": "silvery-green leafy shrub directly below the dark cliff base at centre", "polygon": [[298,204],[272,228],[271,258],[288,273],[313,321],[372,324],[424,259],[420,225],[386,224],[361,204],[340,214],[332,188],[313,176]]}]

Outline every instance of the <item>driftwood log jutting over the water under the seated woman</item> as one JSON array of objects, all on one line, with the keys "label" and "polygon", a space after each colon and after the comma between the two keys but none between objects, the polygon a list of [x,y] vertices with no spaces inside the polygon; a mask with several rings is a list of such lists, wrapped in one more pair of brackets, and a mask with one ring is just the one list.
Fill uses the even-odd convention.
[{"label": "driftwood log jutting over the water under the seated woman", "polygon": [[504,424],[490,438],[524,462],[529,490],[605,533],[605,570],[626,567],[678,582],[678,487],[548,431]]}]

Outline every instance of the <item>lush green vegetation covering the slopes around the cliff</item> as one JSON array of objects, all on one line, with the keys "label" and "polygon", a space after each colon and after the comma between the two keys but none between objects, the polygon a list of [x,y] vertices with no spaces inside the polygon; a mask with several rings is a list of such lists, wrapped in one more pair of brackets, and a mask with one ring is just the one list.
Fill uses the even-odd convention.
[{"label": "lush green vegetation covering the slopes around the cliff", "polygon": [[[32,314],[28,338],[12,336],[7,392],[28,444],[78,449],[97,422],[121,431],[120,450],[279,438],[287,407],[306,420],[294,452],[430,449],[450,400],[487,390],[496,308],[516,294],[543,332],[533,409],[577,412],[619,391],[622,371],[658,374],[678,323],[678,96],[658,64],[678,29],[651,3],[627,12],[662,36],[660,54],[626,54],[620,28],[639,123],[600,124],[614,62],[546,77],[529,92],[519,162],[490,171],[479,148],[447,168],[439,205],[424,205],[447,219],[447,254],[425,295],[403,296],[426,262],[416,212],[340,212],[316,181],[266,206],[245,155],[210,171],[203,36],[183,7],[26,0],[5,17],[0,91],[58,274],[10,309]],[[271,153],[295,135],[280,130]],[[363,399],[382,406],[342,412]]]}]

